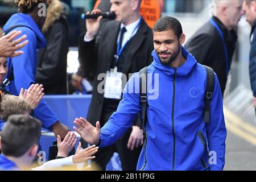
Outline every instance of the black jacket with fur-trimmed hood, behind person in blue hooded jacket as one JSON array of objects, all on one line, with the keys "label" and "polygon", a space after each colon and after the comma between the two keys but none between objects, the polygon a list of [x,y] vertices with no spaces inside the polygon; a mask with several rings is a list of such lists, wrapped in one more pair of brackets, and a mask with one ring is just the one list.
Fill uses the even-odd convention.
[{"label": "black jacket with fur-trimmed hood, behind person in blue hooded jacket", "polygon": [[64,15],[44,32],[47,47],[38,52],[36,83],[45,94],[67,94],[68,22]]}]

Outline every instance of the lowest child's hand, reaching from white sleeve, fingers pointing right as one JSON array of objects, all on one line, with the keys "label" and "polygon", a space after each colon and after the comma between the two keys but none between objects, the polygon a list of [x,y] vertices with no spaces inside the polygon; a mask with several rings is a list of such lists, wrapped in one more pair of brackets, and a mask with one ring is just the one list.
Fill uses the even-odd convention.
[{"label": "lowest child's hand, reaching from white sleeve, fingers pointing right", "polygon": [[73,155],[73,163],[84,163],[89,159],[94,159],[94,155],[98,151],[98,147],[96,145],[92,145],[90,147],[81,150],[81,142],[79,142],[79,146],[77,147],[76,154]]}]

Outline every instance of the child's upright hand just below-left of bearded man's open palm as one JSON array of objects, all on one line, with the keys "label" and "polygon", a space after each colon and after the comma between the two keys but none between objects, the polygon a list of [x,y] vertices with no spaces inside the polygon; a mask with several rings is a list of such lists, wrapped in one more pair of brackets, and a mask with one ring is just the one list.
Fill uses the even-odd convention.
[{"label": "child's upright hand just below-left of bearded man's open palm", "polygon": [[63,142],[61,142],[60,135],[57,135],[57,156],[67,157],[69,152],[71,152],[71,150],[75,147],[76,141],[76,134],[71,131],[69,131],[68,134],[65,136]]}]

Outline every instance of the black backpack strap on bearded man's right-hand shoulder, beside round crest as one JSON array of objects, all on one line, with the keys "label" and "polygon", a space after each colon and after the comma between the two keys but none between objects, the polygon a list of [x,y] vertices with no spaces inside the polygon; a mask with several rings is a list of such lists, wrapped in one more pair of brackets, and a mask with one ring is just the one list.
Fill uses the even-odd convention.
[{"label": "black backpack strap on bearded man's right-hand shoulder, beside round crest", "polygon": [[204,121],[210,122],[210,100],[212,100],[214,89],[214,71],[212,68],[203,65],[207,71],[207,87],[205,90]]}]

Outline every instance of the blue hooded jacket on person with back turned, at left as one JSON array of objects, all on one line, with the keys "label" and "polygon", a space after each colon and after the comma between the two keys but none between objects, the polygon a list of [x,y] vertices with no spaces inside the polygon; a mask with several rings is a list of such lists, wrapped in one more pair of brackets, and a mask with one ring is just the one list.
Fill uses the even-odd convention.
[{"label": "blue hooded jacket on person with back turned, at left", "polygon": [[[21,88],[28,89],[31,84],[35,84],[37,49],[45,47],[46,40],[31,16],[23,13],[12,15],[3,27],[3,31],[8,30],[16,24],[29,27],[16,27],[13,29],[21,30],[22,34],[20,36],[27,35],[28,44],[20,49],[24,51],[22,55],[8,59],[9,71],[6,77],[13,71],[14,80],[10,82],[7,89],[12,94],[18,96]],[[51,126],[58,121],[58,118],[44,100],[36,107],[34,114],[36,118],[42,121],[43,127],[49,130],[51,130]]]}]

